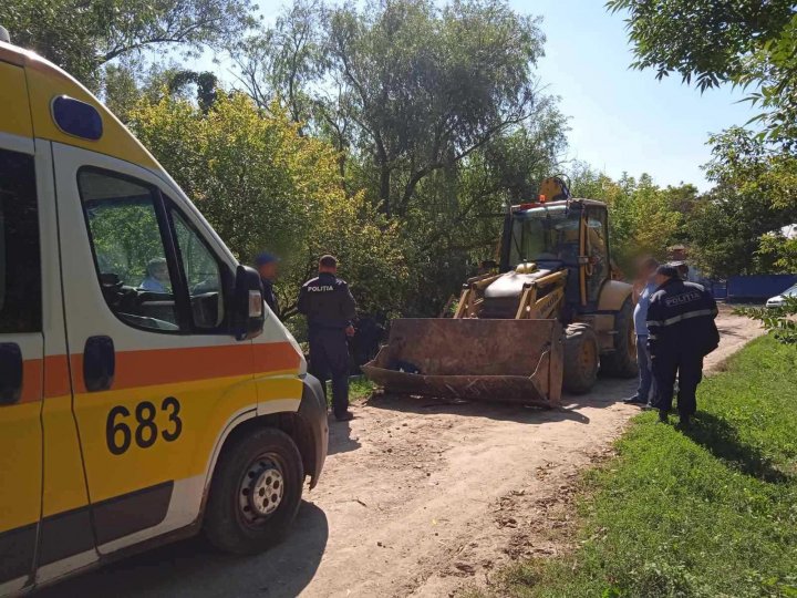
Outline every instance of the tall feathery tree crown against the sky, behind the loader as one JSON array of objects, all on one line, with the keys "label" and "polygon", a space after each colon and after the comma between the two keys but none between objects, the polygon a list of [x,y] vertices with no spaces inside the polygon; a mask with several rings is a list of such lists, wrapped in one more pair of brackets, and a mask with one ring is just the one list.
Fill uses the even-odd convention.
[{"label": "tall feathery tree crown against the sky, behind the loader", "polygon": [[345,6],[331,11],[327,35],[340,84],[331,110],[349,118],[389,216],[405,215],[424,178],[528,120],[541,100],[531,66],[544,37],[501,0]]}]

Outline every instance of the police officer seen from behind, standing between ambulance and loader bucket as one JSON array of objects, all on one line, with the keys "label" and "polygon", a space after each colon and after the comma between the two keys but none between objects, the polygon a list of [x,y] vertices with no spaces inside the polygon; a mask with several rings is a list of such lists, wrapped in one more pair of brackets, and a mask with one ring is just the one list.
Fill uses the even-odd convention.
[{"label": "police officer seen from behind, standing between ambulance and loader bucket", "polygon": [[319,276],[299,291],[299,311],[307,316],[310,336],[310,372],[325,388],[332,377],[332,411],[338,421],[354,417],[349,411],[349,348],[354,334],[356,303],[349,285],[338,278],[338,260],[323,256]]}]

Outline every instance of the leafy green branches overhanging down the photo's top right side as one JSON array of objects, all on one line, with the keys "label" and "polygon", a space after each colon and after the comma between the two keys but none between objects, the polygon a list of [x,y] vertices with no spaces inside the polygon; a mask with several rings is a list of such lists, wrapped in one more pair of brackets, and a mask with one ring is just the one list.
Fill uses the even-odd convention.
[{"label": "leafy green branches overhanging down the photo's top right side", "polygon": [[638,69],[677,72],[701,89],[729,82],[753,91],[762,134],[732,127],[713,135],[706,165],[715,187],[685,227],[705,274],[789,271],[797,197],[797,14],[791,0],[609,0],[628,16]]}]

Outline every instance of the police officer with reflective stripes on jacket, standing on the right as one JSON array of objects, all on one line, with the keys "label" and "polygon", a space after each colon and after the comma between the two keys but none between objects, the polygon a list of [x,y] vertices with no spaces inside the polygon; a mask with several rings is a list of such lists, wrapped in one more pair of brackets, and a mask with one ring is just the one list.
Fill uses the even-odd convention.
[{"label": "police officer with reflective stripes on jacket, standing on the right", "polygon": [[697,410],[695,391],[703,379],[703,358],[720,344],[714,298],[702,286],[681,280],[677,268],[659,266],[656,290],[648,309],[648,348],[656,390],[653,406],[666,422],[672,406],[675,375],[681,425],[687,426]]}]

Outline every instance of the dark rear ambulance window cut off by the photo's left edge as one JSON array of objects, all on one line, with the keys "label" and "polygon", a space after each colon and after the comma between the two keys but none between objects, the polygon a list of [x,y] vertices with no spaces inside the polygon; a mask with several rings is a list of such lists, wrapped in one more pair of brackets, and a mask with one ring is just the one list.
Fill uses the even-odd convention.
[{"label": "dark rear ambulance window cut off by the photo's left edge", "polygon": [[33,156],[0,150],[0,333],[41,331]]}]

